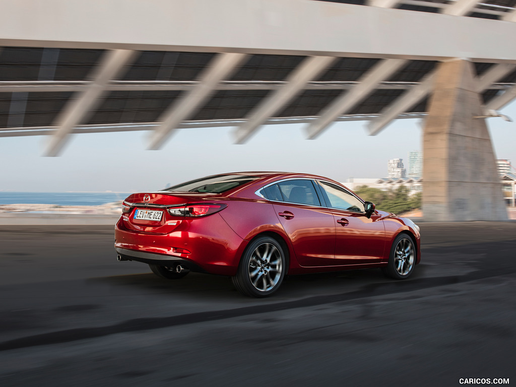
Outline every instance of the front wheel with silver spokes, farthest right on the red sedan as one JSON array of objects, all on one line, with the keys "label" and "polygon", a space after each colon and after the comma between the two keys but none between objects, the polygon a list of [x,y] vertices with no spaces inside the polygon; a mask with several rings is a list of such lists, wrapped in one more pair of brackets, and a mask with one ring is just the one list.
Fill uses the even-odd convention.
[{"label": "front wheel with silver spokes, farthest right on the red sedan", "polygon": [[385,276],[396,280],[405,280],[412,275],[416,262],[416,250],[412,238],[399,234],[391,246],[389,263],[382,268]]}]

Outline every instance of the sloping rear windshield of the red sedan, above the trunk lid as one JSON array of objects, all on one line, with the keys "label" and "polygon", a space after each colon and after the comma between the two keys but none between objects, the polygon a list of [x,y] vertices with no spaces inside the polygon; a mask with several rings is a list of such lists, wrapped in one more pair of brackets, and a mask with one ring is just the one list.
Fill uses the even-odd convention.
[{"label": "sloping rear windshield of the red sedan, above the trunk lid", "polygon": [[164,191],[222,193],[240,185],[252,182],[256,179],[258,179],[258,176],[208,176],[207,178],[192,180],[186,183],[174,185],[173,187],[165,188]]}]

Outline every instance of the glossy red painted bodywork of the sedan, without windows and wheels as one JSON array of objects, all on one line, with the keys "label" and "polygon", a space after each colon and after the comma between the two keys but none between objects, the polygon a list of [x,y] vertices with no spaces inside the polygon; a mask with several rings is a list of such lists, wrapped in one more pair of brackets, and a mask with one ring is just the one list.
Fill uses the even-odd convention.
[{"label": "glossy red painted bodywork of the sedan, without windows and wheels", "polygon": [[[166,266],[168,260],[181,260],[193,271],[234,276],[246,246],[266,233],[284,246],[288,274],[294,275],[385,266],[394,238],[405,232],[414,241],[416,264],[421,260],[420,233],[409,219],[382,211],[368,218],[365,212],[268,200],[255,193],[264,186],[292,179],[309,180],[314,185],[322,181],[345,189],[330,179],[295,173],[231,175],[239,174],[256,178],[223,193],[158,191],[129,196],[125,200],[129,204],[127,213],[116,224],[115,248],[133,261]],[[145,195],[150,196],[147,202]],[[170,207],[189,203],[227,206],[202,217],[168,212]],[[160,221],[137,220],[136,209],[163,211],[163,217]]]}]

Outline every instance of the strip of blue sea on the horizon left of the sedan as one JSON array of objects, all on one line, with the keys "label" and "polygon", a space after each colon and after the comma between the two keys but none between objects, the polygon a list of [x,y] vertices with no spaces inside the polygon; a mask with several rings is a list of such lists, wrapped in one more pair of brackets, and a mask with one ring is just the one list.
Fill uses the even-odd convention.
[{"label": "strip of blue sea on the horizon left of the sedan", "polygon": [[0,204],[101,205],[121,202],[131,192],[9,192],[0,191]]}]

